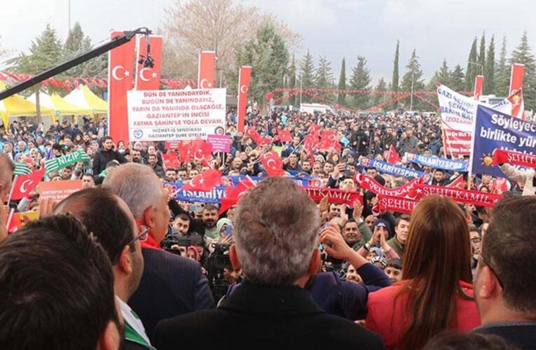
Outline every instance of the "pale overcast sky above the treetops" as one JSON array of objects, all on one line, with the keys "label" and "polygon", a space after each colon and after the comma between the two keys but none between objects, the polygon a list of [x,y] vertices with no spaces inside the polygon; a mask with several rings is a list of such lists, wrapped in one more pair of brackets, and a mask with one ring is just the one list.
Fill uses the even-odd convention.
[{"label": "pale overcast sky above the treetops", "polygon": [[[4,0],[6,1],[6,0]],[[161,25],[165,8],[176,0],[70,0],[71,23],[81,23],[93,42],[109,29]],[[536,48],[536,1],[498,0],[249,0],[270,11],[303,35],[303,49],[318,59],[325,55],[336,72],[346,57],[347,69],[357,56],[368,59],[374,78],[390,80],[397,39],[401,44],[401,75],[411,50],[417,49],[425,76],[432,76],[446,58],[449,66],[467,65],[474,36],[495,34],[500,49],[507,36],[514,48],[523,30]],[[50,23],[64,39],[68,31],[69,0],[17,0],[0,11],[0,45],[26,50]],[[303,52],[302,52],[303,53]],[[347,71],[347,76],[350,70]]]}]

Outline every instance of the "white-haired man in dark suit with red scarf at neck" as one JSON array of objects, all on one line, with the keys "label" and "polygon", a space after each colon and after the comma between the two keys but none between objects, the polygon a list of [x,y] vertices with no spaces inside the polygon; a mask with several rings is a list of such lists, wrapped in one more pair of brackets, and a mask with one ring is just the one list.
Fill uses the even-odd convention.
[{"label": "white-haired man in dark suit with red scarf at neck", "polygon": [[201,274],[201,265],[160,248],[170,222],[170,210],[168,193],[153,169],[136,163],[121,165],[106,176],[102,186],[128,204],[138,225],[150,229],[149,236],[142,241],[142,281],[128,302],[142,320],[149,338],[163,318],[213,308],[214,299],[206,277]]}]

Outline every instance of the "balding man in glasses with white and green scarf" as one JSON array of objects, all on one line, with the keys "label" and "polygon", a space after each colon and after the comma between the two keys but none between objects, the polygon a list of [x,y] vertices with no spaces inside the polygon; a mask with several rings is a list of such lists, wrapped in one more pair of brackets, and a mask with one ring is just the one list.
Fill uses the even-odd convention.
[{"label": "balding man in glasses with white and green scarf", "polygon": [[142,279],[144,258],[141,241],[149,228],[136,225],[120,197],[101,188],[86,188],[65,198],[54,214],[70,213],[92,232],[110,258],[116,300],[125,320],[125,349],[153,349],[144,325],[128,306]]}]

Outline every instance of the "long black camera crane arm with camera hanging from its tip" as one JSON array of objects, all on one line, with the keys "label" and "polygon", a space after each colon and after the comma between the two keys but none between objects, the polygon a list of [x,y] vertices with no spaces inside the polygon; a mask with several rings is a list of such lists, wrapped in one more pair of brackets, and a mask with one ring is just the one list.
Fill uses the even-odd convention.
[{"label": "long black camera crane arm with camera hanging from its tip", "polygon": [[47,69],[46,71],[42,71],[41,73],[36,74],[36,76],[33,76],[32,78],[29,78],[28,80],[22,81],[21,83],[18,83],[17,85],[13,85],[13,87],[10,87],[9,89],[1,91],[0,101],[10,96],[13,96],[14,94],[18,94],[22,90],[26,90],[29,87],[39,84],[43,80],[46,80],[57,74],[67,71],[68,69],[71,69],[74,66],[78,66],[78,64],[82,64],[83,62],[86,62],[89,59],[102,55],[103,53],[108,52],[109,50],[112,50],[114,48],[117,48],[118,46],[128,43],[136,34],[144,34],[146,36],[146,43],[147,43],[147,56],[139,59],[139,64],[152,68],[154,66],[154,61],[153,61],[153,57],[151,57],[151,42],[149,41],[149,35],[151,33],[152,31],[147,29],[146,27],[138,28],[134,31],[125,31],[122,35],[116,36],[115,38],[111,38],[110,41],[108,41],[107,43],[103,43],[102,45],[99,45],[96,48],[92,48],[91,50],[87,52],[84,52],[74,58],[69,59],[67,62],[54,66],[50,69]]}]

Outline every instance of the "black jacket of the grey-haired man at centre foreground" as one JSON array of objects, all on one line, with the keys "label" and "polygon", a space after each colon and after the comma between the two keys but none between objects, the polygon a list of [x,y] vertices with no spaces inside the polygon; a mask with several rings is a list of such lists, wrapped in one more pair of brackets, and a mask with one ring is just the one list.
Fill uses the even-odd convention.
[{"label": "black jacket of the grey-haired man at centre foreground", "polygon": [[219,309],[165,320],[153,346],[166,349],[384,349],[378,335],[326,314],[307,290],[245,281]]}]

